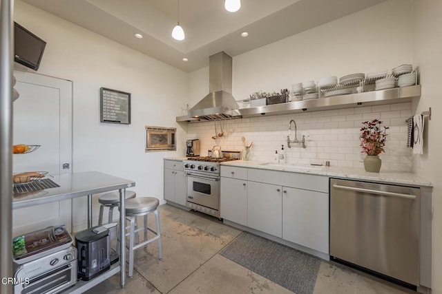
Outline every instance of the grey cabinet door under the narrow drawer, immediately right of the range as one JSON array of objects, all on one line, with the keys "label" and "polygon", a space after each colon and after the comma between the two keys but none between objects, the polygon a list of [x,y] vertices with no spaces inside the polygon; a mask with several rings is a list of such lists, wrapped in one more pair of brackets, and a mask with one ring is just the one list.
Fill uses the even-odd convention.
[{"label": "grey cabinet door under the narrow drawer, immediately right of the range", "polygon": [[247,181],[221,178],[221,218],[247,226]]}]

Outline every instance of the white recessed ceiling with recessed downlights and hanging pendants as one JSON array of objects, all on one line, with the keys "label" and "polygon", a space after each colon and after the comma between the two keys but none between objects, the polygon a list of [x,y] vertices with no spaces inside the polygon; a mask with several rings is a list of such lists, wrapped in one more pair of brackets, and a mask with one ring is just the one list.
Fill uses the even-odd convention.
[{"label": "white recessed ceiling with recessed downlights and hanging pendants", "polygon": [[[23,1],[191,72],[209,65],[216,52],[236,56],[385,0],[241,0],[233,13],[224,9],[224,0],[180,0],[184,41],[171,36],[178,0]],[[249,36],[240,36],[244,31]]]}]

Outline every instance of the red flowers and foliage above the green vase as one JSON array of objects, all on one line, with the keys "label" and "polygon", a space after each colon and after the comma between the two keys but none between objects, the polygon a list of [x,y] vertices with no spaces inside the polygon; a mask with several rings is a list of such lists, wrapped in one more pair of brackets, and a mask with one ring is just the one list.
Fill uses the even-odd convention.
[{"label": "red flowers and foliage above the green vase", "polygon": [[372,121],[363,122],[361,127],[361,153],[367,155],[379,155],[381,152],[385,152],[385,139],[387,134],[385,130],[390,127],[381,127],[381,120],[374,119]]}]

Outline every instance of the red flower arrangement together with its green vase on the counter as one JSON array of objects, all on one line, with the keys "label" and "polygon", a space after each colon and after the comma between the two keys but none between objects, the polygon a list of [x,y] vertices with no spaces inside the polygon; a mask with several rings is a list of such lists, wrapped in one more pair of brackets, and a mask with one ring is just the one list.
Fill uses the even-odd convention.
[{"label": "red flower arrangement together with its green vase on the counter", "polygon": [[364,158],[365,171],[378,173],[381,170],[381,158],[379,154],[385,152],[385,139],[387,138],[387,129],[382,125],[382,121],[374,119],[363,122],[361,127],[361,153],[366,154]]}]

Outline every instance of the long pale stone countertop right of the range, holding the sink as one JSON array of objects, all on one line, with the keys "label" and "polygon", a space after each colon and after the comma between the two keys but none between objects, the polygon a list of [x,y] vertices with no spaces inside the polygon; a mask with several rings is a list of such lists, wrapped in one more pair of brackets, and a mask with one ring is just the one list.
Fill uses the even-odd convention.
[{"label": "long pale stone countertop right of the range, holding the sink", "polygon": [[371,173],[364,169],[355,169],[349,167],[325,167],[315,165],[294,165],[290,163],[271,163],[255,160],[233,160],[222,162],[221,165],[232,167],[248,167],[253,169],[269,169],[272,171],[291,171],[303,174],[315,174],[320,176],[329,176],[336,178],[346,178],[349,180],[369,180],[374,182],[385,182],[392,184],[427,186],[432,187],[432,183],[418,175],[403,171],[382,171]]}]

